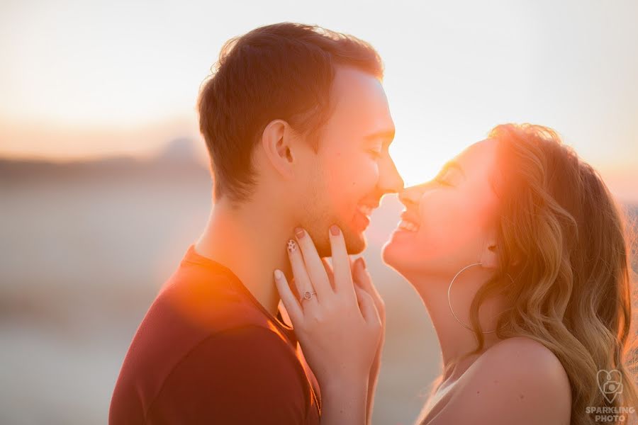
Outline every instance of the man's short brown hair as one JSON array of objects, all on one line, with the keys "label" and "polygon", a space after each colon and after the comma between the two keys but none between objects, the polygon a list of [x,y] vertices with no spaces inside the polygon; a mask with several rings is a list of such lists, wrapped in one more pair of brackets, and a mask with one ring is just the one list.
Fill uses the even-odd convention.
[{"label": "man's short brown hair", "polygon": [[[330,86],[340,65],[383,77],[381,58],[371,45],[318,26],[276,23],[223,45],[197,106],[215,198],[241,202],[250,197],[252,152],[272,120],[316,135],[330,115]],[[317,149],[317,137],[312,138]]]}]

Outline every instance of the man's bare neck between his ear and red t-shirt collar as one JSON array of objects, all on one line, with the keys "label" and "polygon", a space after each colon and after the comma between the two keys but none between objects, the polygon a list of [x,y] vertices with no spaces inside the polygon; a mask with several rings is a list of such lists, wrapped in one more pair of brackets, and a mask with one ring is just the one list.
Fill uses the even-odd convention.
[{"label": "man's bare neck between his ear and red t-shirt collar", "polygon": [[195,244],[198,254],[230,268],[273,316],[279,305],[273,271],[279,268],[290,276],[286,242],[293,237],[293,229],[281,223],[281,217],[264,214],[263,208],[233,209],[221,199],[213,205],[206,229]]}]

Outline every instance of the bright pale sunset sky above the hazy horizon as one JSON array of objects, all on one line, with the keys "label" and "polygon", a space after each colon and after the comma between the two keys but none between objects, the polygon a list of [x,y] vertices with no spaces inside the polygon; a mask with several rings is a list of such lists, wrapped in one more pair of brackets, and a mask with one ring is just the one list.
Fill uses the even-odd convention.
[{"label": "bright pale sunset sky above the hazy horizon", "polygon": [[176,137],[203,155],[195,101],[223,42],[298,21],[379,50],[406,184],[498,123],[531,122],[638,201],[637,19],[634,0],[5,0],[0,156],[148,156]]}]

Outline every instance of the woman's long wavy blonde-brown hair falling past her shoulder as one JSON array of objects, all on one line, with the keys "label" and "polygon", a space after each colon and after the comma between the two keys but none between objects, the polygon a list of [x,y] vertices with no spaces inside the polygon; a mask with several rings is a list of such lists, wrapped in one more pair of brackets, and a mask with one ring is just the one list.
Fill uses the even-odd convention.
[{"label": "woman's long wavy blonde-brown hair falling past her shoulder", "polygon": [[[468,356],[484,346],[478,308],[500,293],[509,308],[499,317],[497,335],[527,336],[559,358],[571,384],[572,424],[595,424],[595,415],[586,413],[590,406],[638,409],[633,226],[597,171],[554,130],[505,124],[489,137],[498,141],[498,269],[471,304],[478,344]],[[599,390],[599,370],[622,376],[622,392],[612,403]],[[636,416],[625,415],[624,423]]]}]

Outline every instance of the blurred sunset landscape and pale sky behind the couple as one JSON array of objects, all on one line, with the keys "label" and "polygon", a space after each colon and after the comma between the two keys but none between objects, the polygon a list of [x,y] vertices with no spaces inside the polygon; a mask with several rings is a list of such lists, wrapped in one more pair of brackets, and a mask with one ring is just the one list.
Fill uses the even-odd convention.
[{"label": "blurred sunset landscape and pale sky behind the couple", "polygon": [[[198,89],[223,42],[279,21],[371,42],[406,185],[498,123],[561,133],[638,205],[638,3],[3,0],[0,423],[105,424],[130,340],[211,207]],[[440,372],[415,291],[364,256],[388,329],[375,424],[411,424]]]}]

